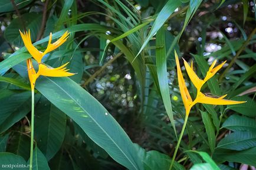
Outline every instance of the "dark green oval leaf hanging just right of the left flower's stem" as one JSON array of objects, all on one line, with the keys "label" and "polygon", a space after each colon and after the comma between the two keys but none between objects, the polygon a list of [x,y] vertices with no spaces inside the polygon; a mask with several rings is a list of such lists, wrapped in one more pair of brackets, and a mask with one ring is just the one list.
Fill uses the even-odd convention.
[{"label": "dark green oval leaf hanging just right of the left flower's stem", "polygon": [[66,115],[42,97],[35,108],[35,136],[47,160],[61,148],[65,126]]}]

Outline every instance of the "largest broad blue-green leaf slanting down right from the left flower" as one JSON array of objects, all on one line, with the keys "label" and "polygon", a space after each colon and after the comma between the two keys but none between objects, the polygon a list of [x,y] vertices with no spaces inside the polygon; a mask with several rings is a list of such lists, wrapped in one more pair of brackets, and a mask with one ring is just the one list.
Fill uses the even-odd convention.
[{"label": "largest broad blue-green leaf slanting down right from the left flower", "polygon": [[70,78],[41,77],[37,89],[70,116],[86,134],[117,162],[129,169],[143,169],[132,141],[107,110]]}]

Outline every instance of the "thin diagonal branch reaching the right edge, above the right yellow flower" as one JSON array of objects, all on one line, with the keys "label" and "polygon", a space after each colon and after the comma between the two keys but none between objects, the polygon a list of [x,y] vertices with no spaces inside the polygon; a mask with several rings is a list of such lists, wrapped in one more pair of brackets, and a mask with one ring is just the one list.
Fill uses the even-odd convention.
[{"label": "thin diagonal branch reaching the right edge, above the right yellow flower", "polygon": [[235,63],[235,60],[238,58],[238,56],[241,54],[242,51],[244,51],[245,47],[247,46],[247,44],[250,42],[252,36],[255,34],[256,32],[256,28],[254,28],[254,30],[251,32],[251,34],[249,35],[249,37],[247,38],[247,40],[244,42],[244,44],[241,46],[241,48],[239,49],[239,51],[237,52],[237,54],[235,54],[234,58],[232,58],[231,62],[229,63],[229,65],[227,66],[227,68],[225,69],[225,71],[221,74],[221,76],[219,76],[219,82],[222,81],[222,79],[224,78],[224,76],[227,74],[227,72],[229,71],[229,69],[231,68],[231,66]]}]

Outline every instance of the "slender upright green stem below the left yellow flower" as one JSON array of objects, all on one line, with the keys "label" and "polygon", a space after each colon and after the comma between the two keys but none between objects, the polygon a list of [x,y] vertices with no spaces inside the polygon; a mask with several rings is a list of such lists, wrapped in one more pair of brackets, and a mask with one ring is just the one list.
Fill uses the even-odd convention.
[{"label": "slender upright green stem below the left yellow flower", "polygon": [[35,102],[35,92],[34,89],[31,90],[31,138],[30,138],[30,159],[29,159],[29,170],[32,170],[32,162],[33,162],[33,146],[34,146],[34,102]]}]

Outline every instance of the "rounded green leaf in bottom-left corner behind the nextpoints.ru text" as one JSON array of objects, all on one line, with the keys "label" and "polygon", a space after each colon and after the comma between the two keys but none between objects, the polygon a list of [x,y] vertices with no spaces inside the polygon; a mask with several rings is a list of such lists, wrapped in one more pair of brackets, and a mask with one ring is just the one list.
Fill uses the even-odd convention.
[{"label": "rounded green leaf in bottom-left corner behind the nextpoints.ru text", "polygon": [[8,152],[0,152],[0,165],[1,169],[28,170],[24,158]]}]

